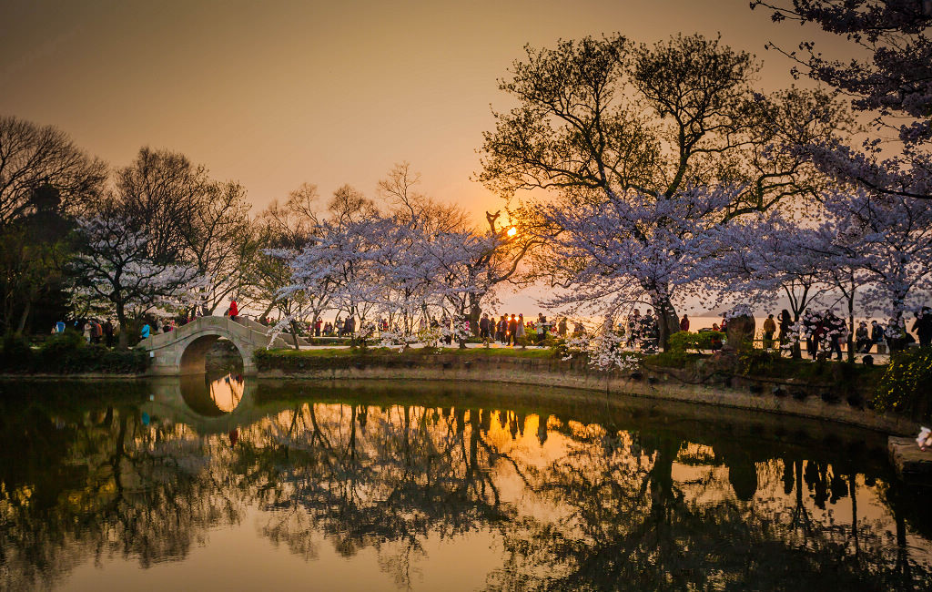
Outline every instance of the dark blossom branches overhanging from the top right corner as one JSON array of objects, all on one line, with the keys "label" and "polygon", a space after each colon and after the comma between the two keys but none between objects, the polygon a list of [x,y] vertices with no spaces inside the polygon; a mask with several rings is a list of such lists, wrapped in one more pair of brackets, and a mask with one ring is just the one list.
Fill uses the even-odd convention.
[{"label": "dark blossom branches overhanging from the top right corner", "polygon": [[[793,74],[839,89],[857,113],[872,117],[875,134],[859,147],[832,135],[802,145],[816,166],[878,193],[932,199],[932,3],[925,0],[754,0],[775,22],[813,23],[847,39],[849,55],[824,55],[816,43],[777,48]],[[774,47],[771,45],[770,47]],[[892,144],[891,144],[892,142]]]}]

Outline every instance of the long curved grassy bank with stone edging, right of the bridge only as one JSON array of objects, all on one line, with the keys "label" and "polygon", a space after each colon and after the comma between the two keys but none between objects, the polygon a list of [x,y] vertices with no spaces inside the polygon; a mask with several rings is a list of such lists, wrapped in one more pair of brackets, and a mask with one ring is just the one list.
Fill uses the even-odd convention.
[{"label": "long curved grassy bank with stone edging, right of the bridge only", "polygon": [[[530,355],[528,355],[530,354]],[[886,434],[915,434],[918,422],[869,408],[868,381],[847,381],[833,392],[829,381],[745,377],[719,371],[706,377],[692,368],[642,365],[633,371],[601,372],[582,359],[563,360],[547,351],[467,350],[405,352],[265,352],[257,356],[260,379],[315,381],[446,380],[562,387],[707,406],[764,411],[829,420]],[[879,371],[879,370],[878,370]],[[825,377],[830,379],[830,375]]]}]

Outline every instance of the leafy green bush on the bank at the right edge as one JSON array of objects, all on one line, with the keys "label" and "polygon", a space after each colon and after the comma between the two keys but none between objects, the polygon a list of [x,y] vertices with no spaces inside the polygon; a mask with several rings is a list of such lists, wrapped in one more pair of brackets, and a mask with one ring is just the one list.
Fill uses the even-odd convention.
[{"label": "leafy green bush on the bank at the right edge", "polygon": [[932,398],[932,348],[909,348],[890,356],[874,394],[878,411],[892,410],[926,420]]}]

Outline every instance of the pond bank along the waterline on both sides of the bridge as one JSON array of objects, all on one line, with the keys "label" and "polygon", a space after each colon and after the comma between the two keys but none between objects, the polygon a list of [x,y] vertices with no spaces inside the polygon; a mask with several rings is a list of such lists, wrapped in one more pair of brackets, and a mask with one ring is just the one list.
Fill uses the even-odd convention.
[{"label": "pond bank along the waterline on both sides of the bridge", "polygon": [[[721,365],[709,356],[667,354],[644,358],[637,369],[603,372],[583,358],[563,359],[549,349],[386,349],[328,348],[312,351],[257,351],[258,379],[311,381],[443,380],[560,387],[582,392],[630,395],[705,406],[829,420],[885,434],[911,435],[919,423],[870,408],[882,368],[788,359],[766,367]],[[5,374],[3,380],[126,380],[144,373],[77,372],[67,375]]]}]

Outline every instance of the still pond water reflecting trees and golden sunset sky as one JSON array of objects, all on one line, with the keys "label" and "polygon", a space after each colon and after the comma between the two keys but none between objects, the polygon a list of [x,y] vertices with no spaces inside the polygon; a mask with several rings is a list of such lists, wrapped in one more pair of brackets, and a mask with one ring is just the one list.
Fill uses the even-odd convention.
[{"label": "still pond water reflecting trees and golden sunset sky", "polygon": [[0,588],[927,590],[884,447],[491,384],[0,383]]}]

